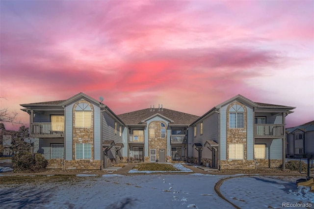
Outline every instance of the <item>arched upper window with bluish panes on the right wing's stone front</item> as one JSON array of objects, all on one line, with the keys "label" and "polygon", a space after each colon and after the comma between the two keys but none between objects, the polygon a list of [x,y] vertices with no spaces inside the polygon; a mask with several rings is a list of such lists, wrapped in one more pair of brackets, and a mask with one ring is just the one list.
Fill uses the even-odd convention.
[{"label": "arched upper window with bluish panes on the right wing's stone front", "polygon": [[229,128],[244,128],[244,109],[239,104],[229,109]]}]

